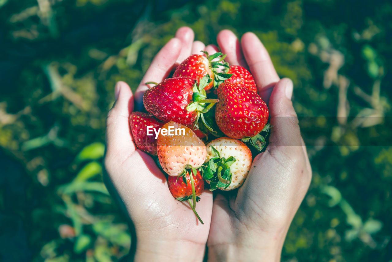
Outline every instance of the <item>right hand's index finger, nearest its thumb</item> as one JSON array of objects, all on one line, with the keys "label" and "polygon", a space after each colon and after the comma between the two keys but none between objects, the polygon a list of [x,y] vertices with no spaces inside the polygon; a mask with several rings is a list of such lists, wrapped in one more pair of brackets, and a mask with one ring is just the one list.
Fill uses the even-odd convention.
[{"label": "right hand's index finger, nearest its thumb", "polygon": [[242,36],[241,47],[259,94],[268,103],[272,88],[279,81],[268,51],[254,33],[245,33]]}]

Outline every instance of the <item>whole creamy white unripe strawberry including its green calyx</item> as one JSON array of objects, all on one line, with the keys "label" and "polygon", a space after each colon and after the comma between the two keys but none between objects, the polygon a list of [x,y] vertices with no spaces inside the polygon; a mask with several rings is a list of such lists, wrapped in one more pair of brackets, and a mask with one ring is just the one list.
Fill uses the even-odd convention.
[{"label": "whole creamy white unripe strawberry including its green calyx", "polygon": [[210,184],[211,191],[236,189],[247,178],[251,164],[252,152],[243,142],[221,137],[207,144],[203,178]]}]

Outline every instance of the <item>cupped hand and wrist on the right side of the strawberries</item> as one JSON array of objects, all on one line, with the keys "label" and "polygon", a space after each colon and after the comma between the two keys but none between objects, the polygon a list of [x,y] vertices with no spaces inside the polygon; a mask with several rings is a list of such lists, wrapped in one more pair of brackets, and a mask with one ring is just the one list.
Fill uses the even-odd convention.
[{"label": "cupped hand and wrist on the right side of the strawberries", "polygon": [[291,102],[293,84],[279,79],[267,50],[253,33],[241,44],[229,30],[218,35],[229,64],[249,68],[269,104],[269,145],[252,163],[238,191],[217,194],[207,246],[209,261],[280,261],[290,223],[311,180],[311,168]]}]

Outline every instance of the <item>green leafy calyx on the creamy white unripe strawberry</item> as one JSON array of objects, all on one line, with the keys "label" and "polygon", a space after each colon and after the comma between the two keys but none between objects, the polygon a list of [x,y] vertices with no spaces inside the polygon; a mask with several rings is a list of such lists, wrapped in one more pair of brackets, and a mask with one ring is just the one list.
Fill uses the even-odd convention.
[{"label": "green leafy calyx on the creamy white unripe strawberry", "polygon": [[232,179],[230,166],[237,161],[236,158],[230,156],[229,158],[221,157],[219,151],[213,146],[210,146],[212,151],[212,158],[205,162],[201,167],[203,178],[210,183],[210,191],[217,188],[226,189],[229,187]]}]

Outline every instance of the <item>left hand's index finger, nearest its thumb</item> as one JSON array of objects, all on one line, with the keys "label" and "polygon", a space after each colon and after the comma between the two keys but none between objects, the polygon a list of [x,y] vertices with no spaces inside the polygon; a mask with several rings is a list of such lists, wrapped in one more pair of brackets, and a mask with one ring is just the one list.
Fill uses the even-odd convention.
[{"label": "left hand's index finger, nearest its thumb", "polygon": [[176,60],[181,52],[181,41],[177,38],[172,38],[169,42],[163,46],[163,48],[156,54],[151,62],[151,65],[147,69],[142,81],[135,92],[135,100],[138,103],[138,110],[140,110],[143,93],[149,86],[145,85],[145,82],[162,82],[167,75],[169,75],[172,67],[176,63]]}]

